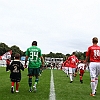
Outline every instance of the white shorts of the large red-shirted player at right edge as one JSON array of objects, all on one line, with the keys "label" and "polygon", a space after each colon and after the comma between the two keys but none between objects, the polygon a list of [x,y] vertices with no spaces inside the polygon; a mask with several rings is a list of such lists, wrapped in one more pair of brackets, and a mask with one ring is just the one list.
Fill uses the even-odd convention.
[{"label": "white shorts of the large red-shirted player at right edge", "polygon": [[98,77],[100,75],[100,63],[99,62],[90,62],[89,64],[90,77]]}]

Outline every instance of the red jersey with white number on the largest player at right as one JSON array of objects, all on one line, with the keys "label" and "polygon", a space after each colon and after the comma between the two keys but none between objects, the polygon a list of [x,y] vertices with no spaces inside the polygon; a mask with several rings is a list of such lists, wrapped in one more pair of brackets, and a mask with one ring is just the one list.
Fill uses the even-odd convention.
[{"label": "red jersey with white number on the largest player at right", "polygon": [[88,48],[86,56],[90,57],[90,62],[100,62],[100,46],[90,46]]}]

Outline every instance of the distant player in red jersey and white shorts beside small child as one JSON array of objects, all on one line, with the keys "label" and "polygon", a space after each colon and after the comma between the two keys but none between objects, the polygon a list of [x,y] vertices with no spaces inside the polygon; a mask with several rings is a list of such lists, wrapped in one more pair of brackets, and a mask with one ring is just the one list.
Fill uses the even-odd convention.
[{"label": "distant player in red jersey and white shorts beside small child", "polygon": [[69,63],[69,77],[70,77],[70,83],[73,82],[73,74],[75,74],[75,69],[77,67],[78,58],[75,56],[75,52],[72,53],[71,56],[68,57],[68,63]]}]

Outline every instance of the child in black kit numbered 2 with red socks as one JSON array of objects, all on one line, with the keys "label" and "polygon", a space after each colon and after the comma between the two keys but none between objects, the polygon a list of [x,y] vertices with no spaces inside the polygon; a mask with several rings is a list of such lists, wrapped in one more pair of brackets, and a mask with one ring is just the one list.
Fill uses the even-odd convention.
[{"label": "child in black kit numbered 2 with red socks", "polygon": [[20,54],[15,54],[15,59],[10,64],[9,70],[11,79],[11,92],[14,93],[14,84],[16,83],[16,92],[19,92],[19,82],[21,81],[21,70],[24,71],[23,64],[20,62]]}]

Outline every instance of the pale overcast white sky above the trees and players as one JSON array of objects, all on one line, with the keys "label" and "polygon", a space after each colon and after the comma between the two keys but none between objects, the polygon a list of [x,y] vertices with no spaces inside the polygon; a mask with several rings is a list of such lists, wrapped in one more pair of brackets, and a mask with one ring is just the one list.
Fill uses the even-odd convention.
[{"label": "pale overcast white sky above the trees and players", "polygon": [[[100,0],[0,0],[0,42],[43,54],[85,52],[100,40]],[[100,42],[98,43],[100,45]]]}]

